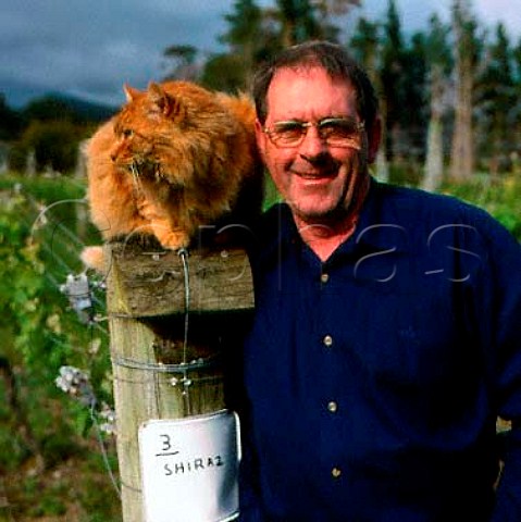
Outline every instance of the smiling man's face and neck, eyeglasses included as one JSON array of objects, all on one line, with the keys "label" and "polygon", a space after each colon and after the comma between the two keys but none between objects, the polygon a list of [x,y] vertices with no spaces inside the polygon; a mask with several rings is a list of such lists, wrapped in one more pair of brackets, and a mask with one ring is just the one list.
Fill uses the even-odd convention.
[{"label": "smiling man's face and neck, eyeglasses included", "polygon": [[[360,73],[359,80],[368,82]],[[369,87],[369,86],[368,86]],[[281,67],[257,121],[257,141],[298,228],[325,260],[355,229],[369,188],[368,163],[380,144],[376,100],[365,122],[357,89],[314,66]],[[365,132],[367,130],[367,132]]]}]

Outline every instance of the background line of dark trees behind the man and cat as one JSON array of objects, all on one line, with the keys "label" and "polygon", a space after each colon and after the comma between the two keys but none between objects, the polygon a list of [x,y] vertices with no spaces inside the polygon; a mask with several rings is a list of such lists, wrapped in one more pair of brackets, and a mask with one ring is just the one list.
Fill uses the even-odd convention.
[{"label": "background line of dark trees behind the man and cat", "polygon": [[[328,39],[367,67],[380,94],[380,178],[389,177],[389,165],[402,165],[420,171],[423,186],[434,190],[444,178],[521,172],[521,38],[512,41],[501,23],[484,27],[472,0],[451,0],[447,22],[433,14],[414,33],[404,29],[396,0],[387,1],[382,20],[361,16],[362,0],[260,3],[232,3],[218,37],[222,52],[166,48],[165,79],[247,90],[252,71],[283,47]],[[32,159],[36,170],[72,170],[77,145],[91,129],[66,103],[41,99],[18,113],[0,95],[0,140],[14,138],[13,169]]]}]

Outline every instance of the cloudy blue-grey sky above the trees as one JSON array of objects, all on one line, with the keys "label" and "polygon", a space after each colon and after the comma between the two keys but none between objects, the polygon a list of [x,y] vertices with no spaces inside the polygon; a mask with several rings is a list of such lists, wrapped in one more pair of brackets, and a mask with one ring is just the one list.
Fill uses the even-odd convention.
[{"label": "cloudy blue-grey sky above the trees", "polygon": [[[189,44],[219,50],[224,14],[233,0],[0,0],[0,92],[12,107],[63,91],[110,104],[123,102],[126,82],[142,88],[161,79],[164,49]],[[273,2],[261,0],[260,4]],[[362,0],[363,13],[382,20],[387,0]],[[405,32],[425,27],[451,0],[396,0]],[[518,1],[474,0],[483,25],[503,21],[521,38]],[[516,7],[518,5],[518,7]],[[357,10],[360,13],[360,10]]]}]

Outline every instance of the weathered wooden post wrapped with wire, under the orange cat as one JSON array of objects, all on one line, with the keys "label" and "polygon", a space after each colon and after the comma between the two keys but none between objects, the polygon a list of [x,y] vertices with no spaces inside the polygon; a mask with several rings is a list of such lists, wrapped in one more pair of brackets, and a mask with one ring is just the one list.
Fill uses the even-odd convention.
[{"label": "weathered wooden post wrapped with wire, under the orange cat", "polygon": [[124,522],[142,522],[138,430],[225,407],[222,334],[253,308],[246,252],[106,247],[107,308]]}]

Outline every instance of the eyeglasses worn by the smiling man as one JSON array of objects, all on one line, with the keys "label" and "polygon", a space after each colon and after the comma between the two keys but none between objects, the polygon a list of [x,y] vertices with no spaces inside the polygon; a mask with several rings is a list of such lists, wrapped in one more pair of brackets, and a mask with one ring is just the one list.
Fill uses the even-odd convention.
[{"label": "eyeglasses worn by the smiling man", "polygon": [[309,127],[317,127],[320,139],[331,147],[360,149],[360,132],[365,125],[348,117],[324,117],[317,123],[298,120],[276,122],[272,128],[264,127],[262,130],[275,147],[291,148],[300,146]]}]

